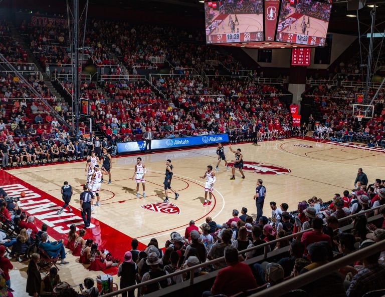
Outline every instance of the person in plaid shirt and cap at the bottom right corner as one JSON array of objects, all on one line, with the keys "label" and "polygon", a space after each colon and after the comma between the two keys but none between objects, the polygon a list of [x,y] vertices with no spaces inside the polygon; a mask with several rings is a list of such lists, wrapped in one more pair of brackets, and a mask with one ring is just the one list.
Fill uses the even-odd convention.
[{"label": "person in plaid shirt and cap at the bottom right corner", "polygon": [[[364,240],[359,249],[374,244],[375,241]],[[380,252],[376,252],[362,260],[363,268],[351,280],[346,291],[347,297],[361,297],[372,290],[385,289],[385,265],[378,263]]]}]

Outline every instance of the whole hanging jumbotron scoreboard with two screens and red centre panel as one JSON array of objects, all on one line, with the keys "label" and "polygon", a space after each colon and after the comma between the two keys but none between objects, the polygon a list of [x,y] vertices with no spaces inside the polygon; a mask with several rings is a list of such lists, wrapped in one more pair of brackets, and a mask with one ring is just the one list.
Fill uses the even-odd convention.
[{"label": "whole hanging jumbotron scoreboard with two screens and red centre panel", "polygon": [[331,7],[331,0],[206,0],[206,41],[245,48],[323,47]]}]

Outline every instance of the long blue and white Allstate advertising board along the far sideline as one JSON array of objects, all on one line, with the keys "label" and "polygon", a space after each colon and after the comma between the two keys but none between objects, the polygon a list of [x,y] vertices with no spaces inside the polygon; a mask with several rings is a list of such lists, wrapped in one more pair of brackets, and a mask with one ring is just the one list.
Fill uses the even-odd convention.
[{"label": "long blue and white Allstate advertising board along the far sideline", "polygon": [[[216,144],[219,142],[229,142],[229,135],[227,134],[214,134],[205,136],[190,136],[190,137],[178,137],[168,139],[154,139],[151,142],[151,150],[161,150],[169,148],[179,148],[188,146],[200,146],[205,144]],[[117,143],[118,153],[133,153],[144,151],[144,141],[132,141],[132,142],[120,142]]]}]

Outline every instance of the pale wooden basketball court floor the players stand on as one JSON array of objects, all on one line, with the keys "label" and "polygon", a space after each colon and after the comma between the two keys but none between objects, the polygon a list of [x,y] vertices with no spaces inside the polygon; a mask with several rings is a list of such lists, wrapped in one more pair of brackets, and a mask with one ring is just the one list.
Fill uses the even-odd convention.
[{"label": "pale wooden basketball court floor the players stand on", "polygon": [[[278,205],[286,202],[289,210],[296,209],[299,201],[311,196],[327,201],[334,193],[342,194],[345,189],[352,189],[358,167],[363,168],[369,182],[372,182],[375,178],[383,178],[382,170],[385,166],[385,153],[382,152],[297,138],[263,142],[260,146],[234,144],[232,147],[242,150],[246,179],[241,180],[240,173],[236,172],[236,180],[230,180],[231,169],[227,170],[222,161],[220,171],[215,171],[215,201],[211,206],[202,206],[204,180],[200,176],[205,173],[207,165],[215,167],[215,147],[114,158],[112,183],[102,184],[102,205],[95,207],[92,215],[113,230],[137,238],[144,244],[155,237],[159,245],[164,246],[171,230],[184,234],[189,220],[195,220],[200,225],[210,215],[217,223],[223,223],[231,217],[233,209],[241,210],[242,207],[247,207],[248,214],[255,217],[253,195],[259,178],[263,179],[267,188],[264,215],[270,216],[270,201],[276,201]],[[225,146],[225,153],[229,161],[234,159],[228,146]],[[136,197],[136,183],[131,180],[138,156],[142,157],[147,167],[145,198]],[[174,166],[171,186],[180,194],[176,201],[174,195],[169,194],[170,203],[167,205],[162,202],[166,159],[171,159]],[[79,194],[80,185],[85,182],[84,168],[85,162],[66,162],[8,172],[59,199],[60,187],[64,181],[68,181],[75,189],[71,206],[80,208]],[[101,240],[114,242],[111,236]],[[86,276],[95,277],[100,274],[89,272],[71,255],[68,259],[70,264],[61,266],[59,272],[62,279],[67,279],[71,284],[78,284]],[[13,263],[16,269],[11,273],[11,281],[12,287],[17,289],[15,296],[25,296],[27,266]]]}]

